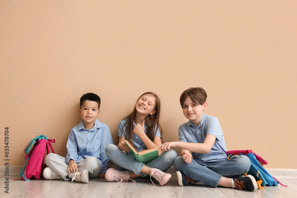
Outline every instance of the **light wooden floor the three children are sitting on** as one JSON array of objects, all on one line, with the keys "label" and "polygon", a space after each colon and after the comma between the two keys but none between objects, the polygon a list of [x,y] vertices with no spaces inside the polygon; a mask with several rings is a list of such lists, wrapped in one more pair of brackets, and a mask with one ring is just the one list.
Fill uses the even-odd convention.
[{"label": "light wooden floor the three children are sitting on", "polygon": [[[202,183],[192,186],[178,186],[177,177],[173,168],[168,172],[172,178],[164,185],[159,186],[156,180],[135,179],[134,182],[108,182],[105,179],[90,179],[89,183],[80,183],[64,180],[13,180],[19,176],[9,177],[9,194],[4,193],[5,176],[0,176],[0,197],[297,197],[297,175],[292,172],[280,174],[270,171],[273,176],[287,187],[266,186],[265,189],[255,191],[240,191],[224,187],[211,188]],[[291,178],[291,179],[288,179]]]}]

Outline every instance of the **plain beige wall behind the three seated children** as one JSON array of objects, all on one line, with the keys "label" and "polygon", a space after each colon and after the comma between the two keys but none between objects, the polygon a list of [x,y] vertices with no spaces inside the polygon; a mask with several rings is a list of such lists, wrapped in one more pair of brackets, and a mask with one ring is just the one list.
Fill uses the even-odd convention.
[{"label": "plain beige wall behind the three seated children", "polygon": [[86,92],[101,97],[98,120],[114,142],[137,98],[156,92],[163,140],[176,141],[187,121],[180,92],[202,86],[205,113],[219,119],[228,150],[252,149],[266,168],[296,168],[296,7],[272,0],[1,1],[0,158],[24,165],[23,149],[38,134],[56,139],[56,153],[65,156]]}]

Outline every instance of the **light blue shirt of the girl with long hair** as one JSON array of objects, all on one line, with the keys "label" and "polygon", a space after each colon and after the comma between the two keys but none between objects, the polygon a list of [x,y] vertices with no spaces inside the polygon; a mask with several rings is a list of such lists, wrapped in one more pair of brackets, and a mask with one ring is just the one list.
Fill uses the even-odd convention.
[{"label": "light blue shirt of the girl with long hair", "polygon": [[[125,129],[126,129],[126,126],[124,128],[124,133],[122,133],[122,129],[123,129],[123,126],[124,124],[127,122],[127,118],[124,119],[124,120],[121,120],[119,122],[119,126],[118,126],[118,137],[124,137],[127,139],[126,137],[126,133],[125,133]],[[133,129],[135,127],[135,123],[133,121]],[[157,126],[156,126],[157,127]],[[155,129],[156,129],[155,127]],[[133,133],[133,132],[132,132]],[[146,134],[146,123],[144,123],[144,133]],[[142,151],[146,148],[146,145],[144,144],[144,142],[140,139],[140,137],[138,135],[136,135],[135,133],[133,133],[134,135],[134,139],[133,139],[133,142],[132,142],[132,139],[129,140],[129,142],[136,148],[136,150],[139,152],[139,151]],[[160,134],[160,130],[159,128],[157,129],[157,132],[156,132],[156,135],[155,137],[158,137],[160,136],[161,137],[161,134]],[[132,138],[132,137],[131,137]],[[162,137],[161,137],[162,138]]]}]

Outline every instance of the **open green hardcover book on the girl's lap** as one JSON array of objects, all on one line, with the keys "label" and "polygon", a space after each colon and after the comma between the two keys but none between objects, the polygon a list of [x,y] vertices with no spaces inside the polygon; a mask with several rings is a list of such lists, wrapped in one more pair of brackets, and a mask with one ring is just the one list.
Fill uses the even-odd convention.
[{"label": "open green hardcover book on the girl's lap", "polygon": [[129,148],[130,153],[139,162],[146,164],[159,156],[157,148],[146,149],[138,152],[130,142],[128,142],[127,140],[124,141],[125,145],[127,145],[127,147]]}]

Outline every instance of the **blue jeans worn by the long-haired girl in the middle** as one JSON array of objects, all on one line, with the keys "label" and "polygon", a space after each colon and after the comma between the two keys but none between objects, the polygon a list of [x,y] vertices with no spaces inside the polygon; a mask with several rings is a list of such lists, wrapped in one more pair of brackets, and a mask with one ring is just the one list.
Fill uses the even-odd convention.
[{"label": "blue jeans worn by the long-haired girl in the middle", "polygon": [[119,170],[133,171],[136,175],[141,175],[141,177],[146,176],[146,174],[140,172],[144,165],[166,172],[172,166],[173,161],[177,156],[176,152],[173,149],[170,149],[169,151],[161,153],[160,156],[147,164],[143,164],[142,162],[136,161],[136,159],[130,157],[113,144],[106,146],[105,154],[111,161],[113,161]]}]

